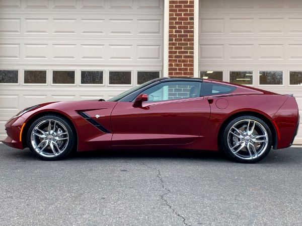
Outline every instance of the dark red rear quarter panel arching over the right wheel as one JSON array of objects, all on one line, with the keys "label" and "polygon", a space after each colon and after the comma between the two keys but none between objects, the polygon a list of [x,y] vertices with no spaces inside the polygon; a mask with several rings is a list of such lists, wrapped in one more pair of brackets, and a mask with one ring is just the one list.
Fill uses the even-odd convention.
[{"label": "dark red rear quarter panel arching over the right wheel", "polygon": [[202,149],[217,150],[220,129],[224,123],[239,115],[254,114],[265,117],[269,122],[284,104],[288,96],[282,95],[222,95],[208,97],[211,107],[209,123],[199,140]]}]

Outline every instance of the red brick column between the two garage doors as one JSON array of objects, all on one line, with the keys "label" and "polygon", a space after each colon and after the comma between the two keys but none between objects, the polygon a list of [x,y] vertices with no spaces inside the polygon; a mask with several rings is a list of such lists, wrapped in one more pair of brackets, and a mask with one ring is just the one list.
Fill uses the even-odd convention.
[{"label": "red brick column between the two garage doors", "polygon": [[194,0],[169,1],[169,77],[193,77],[193,20]]}]

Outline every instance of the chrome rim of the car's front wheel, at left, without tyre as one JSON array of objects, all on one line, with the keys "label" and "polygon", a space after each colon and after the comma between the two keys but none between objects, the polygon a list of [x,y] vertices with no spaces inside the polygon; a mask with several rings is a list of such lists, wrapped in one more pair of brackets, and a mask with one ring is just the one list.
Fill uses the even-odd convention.
[{"label": "chrome rim of the car's front wheel, at left, without tyre", "polygon": [[68,142],[67,128],[58,120],[45,119],[37,123],[31,132],[32,147],[43,157],[53,158],[61,155]]}]

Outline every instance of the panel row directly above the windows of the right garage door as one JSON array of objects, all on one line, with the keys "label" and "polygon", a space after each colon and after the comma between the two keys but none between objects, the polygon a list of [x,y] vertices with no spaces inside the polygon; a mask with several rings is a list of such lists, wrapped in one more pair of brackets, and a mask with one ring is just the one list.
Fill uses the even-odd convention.
[{"label": "panel row directly above the windows of the right garage door", "polygon": [[[210,44],[209,44],[210,43]],[[274,44],[271,44],[274,43]],[[295,43],[295,44],[293,44]],[[262,39],[200,39],[199,63],[208,63],[211,60],[223,60],[223,63],[240,60],[247,63],[269,63],[280,61],[277,64],[288,64],[302,59],[302,41],[288,40],[285,43],[279,39],[275,41]]]}]

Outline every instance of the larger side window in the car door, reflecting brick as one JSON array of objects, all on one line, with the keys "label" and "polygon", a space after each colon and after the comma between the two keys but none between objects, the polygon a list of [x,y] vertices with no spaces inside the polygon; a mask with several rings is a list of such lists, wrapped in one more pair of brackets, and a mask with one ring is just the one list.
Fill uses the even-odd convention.
[{"label": "larger side window in the car door, reflecting brick", "polygon": [[148,95],[148,102],[200,97],[201,82],[163,82],[141,92]]}]

